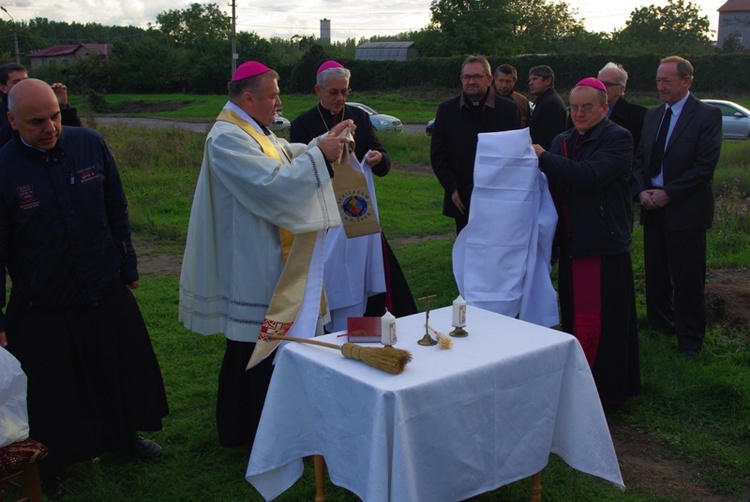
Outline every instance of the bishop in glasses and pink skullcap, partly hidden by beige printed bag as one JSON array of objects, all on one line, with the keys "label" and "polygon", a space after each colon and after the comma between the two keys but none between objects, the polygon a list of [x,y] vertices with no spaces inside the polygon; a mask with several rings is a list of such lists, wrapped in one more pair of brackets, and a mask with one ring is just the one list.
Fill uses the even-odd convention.
[{"label": "bishop in glasses and pink skullcap, partly hidden by beige printed bag", "polygon": [[[341,121],[351,119],[356,126],[357,160],[364,159],[376,176],[385,176],[391,159],[380,144],[370,117],[362,109],[346,104],[350,78],[351,72],[337,61],[320,65],[315,85],[320,101],[292,122],[290,140],[309,143]],[[332,319],[326,329],[344,330],[348,317],[382,316],[385,309],[396,317],[417,312],[409,284],[382,232],[347,239],[339,227],[329,231],[326,246],[324,282]],[[368,249],[382,252],[382,257],[369,258]],[[346,263],[341,263],[341,256],[346,256]],[[378,278],[373,279],[374,275]]]}]

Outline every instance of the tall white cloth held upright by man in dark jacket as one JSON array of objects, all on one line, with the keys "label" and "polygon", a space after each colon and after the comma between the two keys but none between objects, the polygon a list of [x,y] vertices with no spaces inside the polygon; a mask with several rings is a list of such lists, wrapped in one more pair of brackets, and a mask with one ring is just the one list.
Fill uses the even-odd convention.
[{"label": "tall white cloth held upright by man in dark jacket", "polygon": [[538,165],[528,128],[479,134],[453,274],[467,304],[550,327],[559,323],[550,277],[557,211]]}]

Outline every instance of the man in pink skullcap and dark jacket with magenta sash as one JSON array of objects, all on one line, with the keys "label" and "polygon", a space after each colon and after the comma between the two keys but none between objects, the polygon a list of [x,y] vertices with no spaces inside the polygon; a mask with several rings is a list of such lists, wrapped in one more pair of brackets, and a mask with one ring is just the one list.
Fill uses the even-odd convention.
[{"label": "man in pink skullcap and dark jacket with magenta sash", "polygon": [[585,78],[570,91],[574,127],[538,145],[556,181],[558,292],[563,330],[581,343],[602,402],[640,393],[630,230],[633,138],[607,119],[607,88]]}]

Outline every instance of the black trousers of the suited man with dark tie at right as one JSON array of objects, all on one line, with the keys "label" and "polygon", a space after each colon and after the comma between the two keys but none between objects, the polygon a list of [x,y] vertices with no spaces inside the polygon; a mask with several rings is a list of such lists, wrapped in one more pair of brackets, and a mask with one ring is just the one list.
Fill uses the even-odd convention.
[{"label": "black trousers of the suited man with dark tie at right", "polygon": [[649,325],[697,352],[706,333],[706,230],[672,230],[657,209],[644,222],[643,247]]}]

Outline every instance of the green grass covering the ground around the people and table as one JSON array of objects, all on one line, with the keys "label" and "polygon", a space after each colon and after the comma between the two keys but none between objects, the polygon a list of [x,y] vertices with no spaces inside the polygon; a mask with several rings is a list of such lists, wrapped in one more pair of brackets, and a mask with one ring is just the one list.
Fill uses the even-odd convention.
[{"label": "green grass covering the ground around the people and table", "polygon": [[[204,97],[199,99],[204,101]],[[285,107],[291,101],[286,100]],[[213,115],[223,102],[223,97],[217,97],[209,106],[206,98],[196,109],[204,109],[202,113],[210,110]],[[299,106],[311,106],[306,103]],[[393,111],[404,109],[399,107]],[[199,117],[196,114],[190,118]],[[153,253],[179,260],[200,169],[203,136],[177,130],[100,130],[119,163],[135,234],[154,249]],[[384,135],[381,139],[395,161],[425,165],[429,139],[407,136]],[[750,266],[749,166],[750,142],[728,144],[716,174],[717,184],[728,184],[722,192],[726,194],[724,199],[719,201],[719,212],[722,208],[726,211],[709,234],[710,267]],[[384,231],[415,296],[429,288],[439,292],[433,306],[442,306],[456,296],[450,257],[453,222],[441,215],[442,189],[426,172],[394,170],[378,179],[378,201]],[[612,426],[631,427],[665,447],[670,457],[665,462],[677,459],[694,466],[698,474],[693,482],[724,497],[721,500],[746,502],[750,496],[748,334],[729,326],[713,327],[705,350],[697,361],[688,363],[677,352],[674,340],[647,330],[641,239],[636,229],[632,253],[638,277],[644,393],[608,414],[608,420]],[[214,406],[224,340],[190,333],[177,321],[178,281],[174,275],[149,273],[142,277],[136,291],[170,403],[163,430],[149,435],[165,446],[163,457],[147,463],[106,454],[75,466],[64,479],[71,502],[261,500],[244,480],[249,451],[218,445]],[[543,500],[556,502],[697,500],[689,493],[670,496],[638,484],[621,493],[571,469],[554,455],[544,471],[543,483]],[[528,500],[528,490],[528,481],[522,480],[472,500]],[[304,477],[278,500],[312,500],[313,496],[312,466],[307,464]],[[328,497],[331,501],[358,500],[330,483]]]}]

